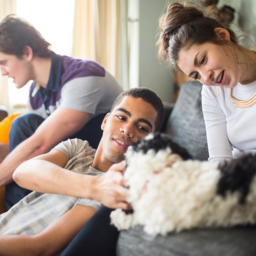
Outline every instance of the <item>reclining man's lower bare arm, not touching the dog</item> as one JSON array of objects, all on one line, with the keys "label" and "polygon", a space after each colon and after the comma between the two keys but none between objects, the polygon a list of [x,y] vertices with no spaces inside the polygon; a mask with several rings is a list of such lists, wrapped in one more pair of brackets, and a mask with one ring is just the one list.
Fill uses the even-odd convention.
[{"label": "reclining man's lower bare arm, not touching the dog", "polygon": [[0,236],[0,255],[55,255],[68,245],[96,211],[92,206],[76,204],[35,236]]}]

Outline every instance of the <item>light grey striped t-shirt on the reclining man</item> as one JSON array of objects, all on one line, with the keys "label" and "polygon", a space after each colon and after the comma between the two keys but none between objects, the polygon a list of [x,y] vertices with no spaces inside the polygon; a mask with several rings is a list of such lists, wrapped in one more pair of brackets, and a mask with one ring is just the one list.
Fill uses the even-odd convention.
[{"label": "light grey striped t-shirt on the reclining man", "polygon": [[[68,158],[65,169],[89,175],[103,173],[91,166],[95,149],[91,148],[87,141],[66,140],[52,150],[56,149]],[[95,200],[33,191],[0,215],[0,235],[38,234],[76,204],[91,205],[96,209],[101,206]]]}]

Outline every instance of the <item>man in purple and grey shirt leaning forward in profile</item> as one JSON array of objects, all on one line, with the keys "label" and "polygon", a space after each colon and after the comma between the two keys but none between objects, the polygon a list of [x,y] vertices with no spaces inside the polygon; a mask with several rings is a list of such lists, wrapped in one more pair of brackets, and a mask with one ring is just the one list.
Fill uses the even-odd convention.
[{"label": "man in purple and grey shirt leaning forward in profile", "polygon": [[[29,190],[12,182],[23,161],[49,152],[62,140],[80,138],[97,148],[100,123],[122,88],[98,63],[60,56],[26,20],[9,15],[0,22],[0,67],[17,88],[33,80],[29,114],[17,117],[8,147],[0,145],[0,187],[7,209]],[[2,146],[2,147],[1,147]],[[4,147],[5,146],[5,147]]]}]

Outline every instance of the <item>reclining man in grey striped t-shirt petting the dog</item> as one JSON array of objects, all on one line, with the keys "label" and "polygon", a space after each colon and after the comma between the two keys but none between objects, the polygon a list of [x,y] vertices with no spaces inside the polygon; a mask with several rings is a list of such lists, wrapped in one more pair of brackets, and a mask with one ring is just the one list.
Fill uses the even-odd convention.
[{"label": "reclining man in grey striped t-shirt petting the dog", "polygon": [[[0,215],[0,234],[5,235],[0,236],[1,255],[55,255],[99,209],[99,201],[112,206],[110,199],[115,198],[114,207],[129,209],[121,172],[124,163],[119,162],[129,145],[161,127],[164,115],[163,104],[154,92],[147,88],[131,90],[139,92],[138,96],[124,94],[104,117],[96,152],[87,141],[67,140],[17,168],[14,180],[38,192]],[[146,101],[145,94],[150,94],[152,103]],[[118,195],[106,186],[110,183],[117,187]]]}]

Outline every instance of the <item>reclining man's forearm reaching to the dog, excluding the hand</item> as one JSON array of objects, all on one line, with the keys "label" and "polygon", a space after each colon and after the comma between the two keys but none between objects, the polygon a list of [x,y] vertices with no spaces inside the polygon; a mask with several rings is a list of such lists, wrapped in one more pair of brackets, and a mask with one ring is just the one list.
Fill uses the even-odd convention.
[{"label": "reclining man's forearm reaching to the dog, excluding the hand", "polygon": [[17,168],[13,178],[21,187],[37,192],[74,197],[82,197],[83,194],[86,198],[92,198],[95,177],[64,169],[61,167],[64,163],[64,160],[59,160],[59,166],[47,160],[31,159]]}]

